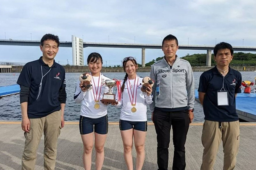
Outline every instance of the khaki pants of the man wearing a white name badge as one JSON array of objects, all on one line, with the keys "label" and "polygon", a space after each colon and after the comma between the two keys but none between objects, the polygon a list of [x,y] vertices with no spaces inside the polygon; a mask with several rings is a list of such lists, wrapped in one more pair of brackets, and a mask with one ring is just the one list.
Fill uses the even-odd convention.
[{"label": "khaki pants of the man wearing a white name badge", "polygon": [[202,144],[204,146],[201,170],[212,170],[221,140],[223,142],[223,170],[233,170],[239,147],[239,121],[213,122],[206,120],[203,125]]}]

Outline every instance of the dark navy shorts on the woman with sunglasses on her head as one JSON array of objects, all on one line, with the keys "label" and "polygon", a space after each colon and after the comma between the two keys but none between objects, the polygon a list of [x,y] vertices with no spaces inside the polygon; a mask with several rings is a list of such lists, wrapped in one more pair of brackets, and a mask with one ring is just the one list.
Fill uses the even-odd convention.
[{"label": "dark navy shorts on the woman with sunglasses on her head", "polygon": [[148,129],[147,121],[145,122],[131,122],[127,120],[119,120],[119,129],[120,130],[128,130],[128,129],[135,129],[146,132]]}]

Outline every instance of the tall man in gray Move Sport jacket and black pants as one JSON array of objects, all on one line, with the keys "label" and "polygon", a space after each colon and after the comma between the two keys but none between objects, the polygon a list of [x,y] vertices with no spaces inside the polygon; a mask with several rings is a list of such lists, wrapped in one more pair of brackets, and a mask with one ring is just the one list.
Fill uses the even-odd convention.
[{"label": "tall man in gray Move Sport jacket and black pants", "polygon": [[173,130],[172,170],[185,170],[185,142],[189,123],[194,118],[195,83],[191,65],[177,57],[178,40],[169,34],[162,42],[163,59],[151,66],[154,102],[151,119],[157,132],[157,164],[168,169],[170,130]]}]

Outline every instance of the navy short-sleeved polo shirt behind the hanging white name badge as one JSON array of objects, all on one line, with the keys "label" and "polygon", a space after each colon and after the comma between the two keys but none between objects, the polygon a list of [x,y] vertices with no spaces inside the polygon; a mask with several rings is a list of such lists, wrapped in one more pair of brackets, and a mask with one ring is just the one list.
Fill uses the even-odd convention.
[{"label": "navy short-sleeved polo shirt behind the hanging white name badge", "polygon": [[241,93],[241,82],[241,73],[229,67],[229,72],[224,77],[224,88],[228,91],[229,105],[218,106],[217,92],[222,88],[223,76],[216,66],[201,75],[198,92],[206,93],[203,102],[205,120],[217,122],[239,120],[236,113],[235,94]]}]

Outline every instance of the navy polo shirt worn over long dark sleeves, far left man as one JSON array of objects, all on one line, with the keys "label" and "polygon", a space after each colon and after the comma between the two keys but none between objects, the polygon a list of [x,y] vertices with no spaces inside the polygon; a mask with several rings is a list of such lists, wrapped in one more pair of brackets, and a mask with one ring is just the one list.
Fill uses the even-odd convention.
[{"label": "navy polo shirt worn over long dark sleeves, far left man", "polygon": [[[45,76],[39,94],[42,73]],[[29,119],[41,118],[61,109],[59,90],[66,87],[65,70],[55,61],[51,68],[43,62],[42,57],[28,62],[24,65],[17,84],[29,87]]]}]

